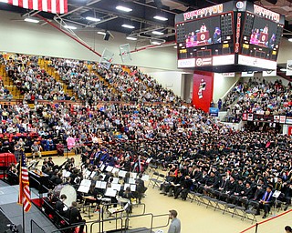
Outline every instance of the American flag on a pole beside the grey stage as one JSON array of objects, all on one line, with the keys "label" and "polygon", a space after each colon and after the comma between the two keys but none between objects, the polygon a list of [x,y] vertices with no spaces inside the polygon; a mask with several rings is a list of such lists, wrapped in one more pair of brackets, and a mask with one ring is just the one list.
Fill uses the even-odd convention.
[{"label": "American flag on a pole beside the grey stage", "polygon": [[31,208],[29,179],[25,153],[22,154],[20,164],[18,204],[23,205],[26,212]]}]

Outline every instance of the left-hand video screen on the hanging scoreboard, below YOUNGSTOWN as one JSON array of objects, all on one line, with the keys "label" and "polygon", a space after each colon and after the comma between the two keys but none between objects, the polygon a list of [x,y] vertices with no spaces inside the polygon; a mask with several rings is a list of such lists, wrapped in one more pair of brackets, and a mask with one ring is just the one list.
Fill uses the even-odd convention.
[{"label": "left-hand video screen on the hanging scoreboard, below YOUNGSTOWN", "polygon": [[185,24],[186,47],[221,43],[220,15]]}]

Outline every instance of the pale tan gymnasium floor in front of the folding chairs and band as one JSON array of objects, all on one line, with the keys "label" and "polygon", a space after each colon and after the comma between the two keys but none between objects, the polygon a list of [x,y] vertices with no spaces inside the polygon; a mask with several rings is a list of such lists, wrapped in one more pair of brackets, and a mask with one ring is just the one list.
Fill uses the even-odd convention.
[{"label": "pale tan gymnasium floor in front of the folding chairs and band", "polygon": [[[75,157],[76,165],[79,164],[79,157]],[[61,164],[65,161],[65,157],[53,157],[55,164]],[[41,162],[39,163],[41,166]],[[146,186],[148,183],[145,184]],[[142,198],[142,203],[146,205],[146,213],[152,213],[153,215],[168,214],[170,209],[176,209],[178,211],[178,218],[182,222],[182,233],[237,233],[243,231],[245,228],[252,226],[250,220],[242,221],[240,217],[231,217],[231,214],[224,214],[221,210],[214,211],[214,208],[206,208],[205,205],[198,206],[195,201],[193,203],[190,200],[183,201],[182,199],[173,199],[160,194],[158,188],[149,187],[146,191],[146,198]],[[134,207],[133,215],[141,214],[141,207]],[[282,210],[276,212],[276,215],[283,213]],[[275,211],[269,216],[269,218],[275,216]],[[98,219],[99,215],[94,214],[91,219],[84,217],[86,220]],[[267,218],[268,219],[268,218]],[[280,218],[275,218],[271,221],[262,224],[258,228],[258,233],[281,233],[284,232],[284,227],[292,225],[292,212],[289,212]],[[262,216],[257,216],[257,221],[262,221]],[[157,218],[154,220],[153,226],[162,226],[166,223],[167,218]],[[111,223],[114,224],[114,223]],[[135,218],[130,220],[131,228],[149,228],[150,218]],[[98,228],[96,225],[95,228]],[[162,229],[164,233],[167,232],[167,228]],[[155,230],[157,230],[155,229]],[[254,233],[255,228],[246,231],[247,233]]]}]

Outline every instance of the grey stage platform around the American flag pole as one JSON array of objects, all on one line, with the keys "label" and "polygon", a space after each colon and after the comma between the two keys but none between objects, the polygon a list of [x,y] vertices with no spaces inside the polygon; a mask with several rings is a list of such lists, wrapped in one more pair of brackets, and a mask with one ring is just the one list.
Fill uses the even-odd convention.
[{"label": "grey stage platform around the American flag pole", "polygon": [[[5,217],[9,219],[13,224],[22,225],[22,207],[17,204],[18,198],[18,185],[9,186],[2,180],[0,180],[0,208],[2,208],[5,213]],[[37,191],[31,190],[31,198],[38,198],[36,196]],[[34,233],[42,232],[53,232],[57,230],[55,225],[47,219],[47,217],[41,213],[41,211],[32,204],[29,212],[25,214],[26,216],[26,232],[31,233],[31,219],[33,219],[36,224],[43,229],[43,231],[37,231],[34,228]]]}]

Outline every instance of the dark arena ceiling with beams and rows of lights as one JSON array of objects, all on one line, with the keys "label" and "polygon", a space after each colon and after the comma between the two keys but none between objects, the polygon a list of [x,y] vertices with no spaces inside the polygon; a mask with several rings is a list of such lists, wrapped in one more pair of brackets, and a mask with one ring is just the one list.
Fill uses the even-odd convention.
[{"label": "dark arena ceiling with beams and rows of lights", "polygon": [[[140,40],[174,41],[174,16],[176,14],[227,1],[229,0],[68,0],[68,13],[64,15],[29,11],[4,3],[0,3],[0,9],[18,13],[23,17],[28,15],[33,17],[39,14],[63,25],[76,26],[77,31],[120,32]],[[287,15],[284,35],[292,37],[292,0],[254,2],[282,15]],[[118,5],[126,6],[131,11],[120,11],[116,8]],[[153,18],[155,15],[165,17],[167,20],[155,19]],[[89,21],[86,19],[88,16],[98,18],[99,21]],[[40,24],[46,24],[46,22],[40,22]],[[153,31],[158,34],[153,34]]]}]

